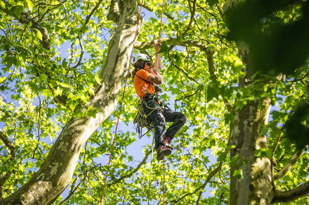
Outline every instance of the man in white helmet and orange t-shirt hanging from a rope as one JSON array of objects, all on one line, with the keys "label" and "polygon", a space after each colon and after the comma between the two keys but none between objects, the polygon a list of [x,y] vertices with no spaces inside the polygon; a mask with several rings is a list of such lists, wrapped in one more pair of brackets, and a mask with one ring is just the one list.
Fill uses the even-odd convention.
[{"label": "man in white helmet and orange t-shirt hanging from a rope", "polygon": [[[154,67],[151,65],[150,58],[145,54],[137,54],[133,58],[134,70],[132,72],[132,80],[138,97],[145,100],[146,115],[153,111],[149,117],[153,122],[155,130],[155,150],[157,151],[157,160],[163,160],[164,156],[170,155],[173,147],[169,145],[176,133],[186,122],[186,117],[181,112],[172,111],[168,108],[155,109],[160,107],[160,99],[158,98],[158,91],[155,84],[162,84],[161,57],[159,54],[161,40],[157,43],[153,41],[155,47],[155,63]],[[162,103],[162,102],[161,102]],[[173,122],[171,126],[165,131],[165,122]]]}]

